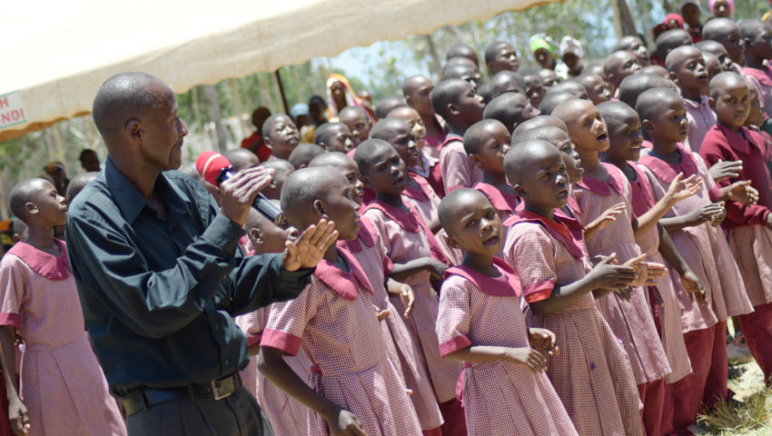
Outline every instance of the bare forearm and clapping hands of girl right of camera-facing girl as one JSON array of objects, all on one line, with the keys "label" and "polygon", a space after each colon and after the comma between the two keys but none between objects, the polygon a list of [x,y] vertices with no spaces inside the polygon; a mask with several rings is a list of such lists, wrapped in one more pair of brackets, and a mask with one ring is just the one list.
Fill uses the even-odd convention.
[{"label": "bare forearm and clapping hands of girl right of camera-facing girl", "polygon": [[635,280],[635,270],[629,266],[612,264],[617,254],[604,258],[584,277],[565,286],[556,285],[549,298],[539,302],[530,302],[530,309],[537,315],[547,315],[565,309],[577,302],[587,292],[593,292],[596,299],[609,292],[624,288]]}]

